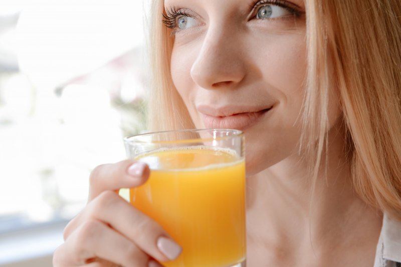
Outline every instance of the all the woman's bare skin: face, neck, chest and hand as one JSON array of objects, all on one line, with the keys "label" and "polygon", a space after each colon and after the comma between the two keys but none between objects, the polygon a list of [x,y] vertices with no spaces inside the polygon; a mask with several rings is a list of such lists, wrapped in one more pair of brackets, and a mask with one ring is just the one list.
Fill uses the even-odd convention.
[{"label": "all the woman's bare skin: face, neck, chest and hand", "polygon": [[[240,128],[246,134],[248,266],[372,266],[382,214],[354,192],[335,88],[323,155],[327,168],[313,193],[298,153],[305,4],[282,3],[286,7],[164,0],[166,10],[187,11],[172,18],[174,85],[197,128]],[[270,7],[261,10],[264,5]],[[271,17],[259,17],[266,14]],[[130,160],[96,168],[88,205],[66,227],[54,266],[157,266],[154,259],[178,256],[180,247],[168,233],[115,192],[142,184],[148,175],[146,166]]]}]

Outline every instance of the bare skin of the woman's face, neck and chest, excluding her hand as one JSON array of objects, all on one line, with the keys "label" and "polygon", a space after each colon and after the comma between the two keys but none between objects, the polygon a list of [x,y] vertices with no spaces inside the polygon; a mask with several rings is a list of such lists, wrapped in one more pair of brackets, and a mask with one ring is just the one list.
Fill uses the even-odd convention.
[{"label": "bare skin of the woman's face, neck and chest, excluding her hand", "polygon": [[187,27],[174,29],[172,78],[196,127],[243,126],[214,116],[272,106],[243,126],[250,174],[249,266],[373,265],[382,214],[354,192],[334,88],[328,108],[328,167],[317,178],[313,195],[306,162],[298,154],[306,27],[304,2],[290,3],[300,15],[276,6],[272,19],[249,19],[252,12],[244,19],[244,0],[229,6],[223,0],[165,0],[167,10],[178,6],[196,14]]}]

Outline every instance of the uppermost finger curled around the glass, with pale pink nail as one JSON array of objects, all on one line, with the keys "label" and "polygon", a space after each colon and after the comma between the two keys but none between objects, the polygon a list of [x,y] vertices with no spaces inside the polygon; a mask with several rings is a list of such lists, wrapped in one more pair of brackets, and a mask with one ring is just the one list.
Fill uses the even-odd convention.
[{"label": "uppermost finger curled around the glass, with pale pink nail", "polygon": [[88,202],[103,191],[139,186],[147,180],[149,173],[149,167],[145,163],[132,159],[99,165],[92,170],[89,177]]}]

